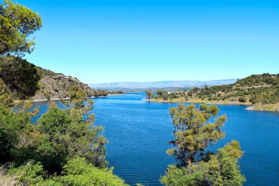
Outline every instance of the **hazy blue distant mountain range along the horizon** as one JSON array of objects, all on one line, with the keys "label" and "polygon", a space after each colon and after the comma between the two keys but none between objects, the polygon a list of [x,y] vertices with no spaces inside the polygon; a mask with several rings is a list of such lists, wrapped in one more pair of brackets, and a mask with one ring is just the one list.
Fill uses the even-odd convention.
[{"label": "hazy blue distant mountain range along the horizon", "polygon": [[152,81],[152,82],[110,82],[110,83],[89,83],[88,86],[94,89],[106,90],[130,90],[150,88],[171,88],[171,87],[203,87],[213,85],[228,85],[235,83],[237,79],[221,79],[210,81]]}]

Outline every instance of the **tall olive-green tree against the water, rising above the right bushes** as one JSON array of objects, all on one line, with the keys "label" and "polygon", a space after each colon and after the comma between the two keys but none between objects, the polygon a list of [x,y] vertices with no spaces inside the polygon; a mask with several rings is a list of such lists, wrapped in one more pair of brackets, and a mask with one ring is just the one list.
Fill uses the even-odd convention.
[{"label": "tall olive-green tree against the water, rising above the right bushes", "polygon": [[[196,155],[201,155],[211,143],[216,143],[225,134],[221,131],[226,116],[221,115],[214,123],[206,123],[219,112],[216,105],[201,104],[195,109],[194,104],[185,106],[181,103],[169,109],[173,125],[175,139],[170,144],[178,148],[169,149],[167,153],[176,158],[178,167],[186,167],[196,162]],[[201,156],[202,157],[202,156]],[[198,159],[201,161],[201,159]]]}]

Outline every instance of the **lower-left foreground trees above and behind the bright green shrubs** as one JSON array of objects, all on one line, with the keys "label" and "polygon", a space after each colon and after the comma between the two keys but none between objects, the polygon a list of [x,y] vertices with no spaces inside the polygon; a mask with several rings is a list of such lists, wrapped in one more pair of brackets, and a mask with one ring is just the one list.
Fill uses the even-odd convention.
[{"label": "lower-left foreground trees above and behind the bright green shrubs", "polygon": [[0,107],[0,163],[21,166],[32,159],[41,162],[48,173],[54,173],[60,172],[67,160],[83,157],[95,167],[106,167],[107,140],[102,135],[103,127],[93,125],[94,114],[89,114],[93,101],[87,101],[84,95],[81,89],[73,87],[67,102],[70,106],[64,110],[50,101],[37,126],[30,123],[30,116],[35,116],[38,108],[27,112],[31,102],[18,101],[15,112]]}]

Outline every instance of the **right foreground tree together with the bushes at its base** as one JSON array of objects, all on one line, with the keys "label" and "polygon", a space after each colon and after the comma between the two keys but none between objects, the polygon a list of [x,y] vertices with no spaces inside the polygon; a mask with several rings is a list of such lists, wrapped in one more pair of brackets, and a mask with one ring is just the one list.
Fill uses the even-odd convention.
[{"label": "right foreground tree together with the bushes at its base", "polygon": [[226,116],[215,118],[214,123],[207,122],[215,117],[219,109],[215,105],[194,104],[169,109],[173,125],[174,140],[169,141],[175,148],[167,153],[176,158],[176,165],[169,165],[160,182],[166,186],[179,185],[243,185],[245,178],[240,174],[237,159],[243,152],[239,142],[233,140],[217,154],[206,148],[224,138],[221,127]]}]

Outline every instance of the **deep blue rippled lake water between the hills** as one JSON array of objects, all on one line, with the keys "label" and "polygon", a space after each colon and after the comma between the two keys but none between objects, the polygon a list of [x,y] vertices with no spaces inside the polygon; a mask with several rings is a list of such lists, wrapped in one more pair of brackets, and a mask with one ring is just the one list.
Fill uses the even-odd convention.
[{"label": "deep blue rippled lake water between the hills", "polygon": [[[93,112],[95,124],[105,126],[104,136],[109,140],[106,159],[109,167],[115,167],[114,174],[130,185],[147,182],[157,186],[167,165],[175,162],[166,154],[172,147],[168,141],[173,138],[168,109],[178,103],[141,101],[144,97],[144,93],[126,93],[93,98]],[[37,105],[40,115],[46,112],[47,102],[34,103]],[[228,116],[223,127],[226,137],[209,150],[238,140],[245,151],[239,160],[247,179],[244,185],[279,185],[279,112],[249,111],[244,105],[217,106],[218,115]]]}]

